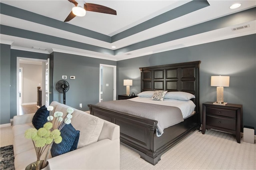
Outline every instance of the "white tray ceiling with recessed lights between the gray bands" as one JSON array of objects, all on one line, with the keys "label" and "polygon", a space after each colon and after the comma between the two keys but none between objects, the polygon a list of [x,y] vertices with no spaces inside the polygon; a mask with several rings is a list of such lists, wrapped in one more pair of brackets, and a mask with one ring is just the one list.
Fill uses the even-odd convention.
[{"label": "white tray ceiling with recessed lights between the gray bands", "polygon": [[[59,21],[64,21],[70,13],[72,7],[74,6],[74,4],[68,2],[68,0],[0,0],[0,2]],[[86,12],[86,16],[75,17],[73,20],[67,23],[86,28],[88,30],[93,30],[107,36],[114,36],[122,31],[132,28],[133,26],[136,26],[142,22],[145,22],[151,18],[163,14],[164,12],[186,4],[190,2],[190,0],[88,0],[86,2],[100,4],[112,8],[116,10],[117,16],[97,12]],[[231,10],[229,8],[230,5],[237,2],[240,2],[242,4],[240,8]],[[35,22],[22,20],[4,14],[0,14],[0,24],[14,28],[29,30],[32,32],[38,32],[41,34],[56,36],[67,40],[73,40],[76,42],[82,42],[85,44],[96,45],[98,47],[104,47],[107,49],[112,49],[111,46],[114,45],[116,46],[116,49],[120,49],[122,47],[155,38],[173,32],[175,30],[187,28],[189,26],[200,24],[229,14],[234,14],[236,12],[240,12],[256,6],[255,0],[208,0],[208,3],[210,4],[210,6],[208,7],[202,8],[195,12],[191,12],[190,14],[186,14],[163,24],[159,24],[158,26],[154,26],[126,38],[122,38],[121,40],[113,43],[104,42],[94,38],[89,38],[79,34],[74,34],[72,32],[52,28],[50,26],[44,26],[42,24],[37,24]],[[242,29],[236,32],[231,30],[231,28],[248,24],[250,25],[250,28]],[[224,40],[228,38],[234,38],[255,33],[256,21],[254,20],[248,23],[230,25],[226,28],[221,28],[210,32],[204,32],[202,34],[197,34],[194,36],[188,36],[178,40],[172,40],[169,42],[151,45],[148,47],[120,53],[117,55],[100,53],[75,47],[68,47],[54,43],[40,42],[36,40],[19,38],[4,34],[0,34],[0,40],[1,43],[11,44],[12,49],[37,51],[41,53],[51,53],[52,51],[57,51],[118,61],[151,53],[157,53],[161,51],[167,51],[171,49],[177,49],[181,47],[187,47],[191,45]],[[33,46],[43,47],[46,48],[46,50],[32,49]],[[127,53],[129,53],[130,55],[127,55]]]}]

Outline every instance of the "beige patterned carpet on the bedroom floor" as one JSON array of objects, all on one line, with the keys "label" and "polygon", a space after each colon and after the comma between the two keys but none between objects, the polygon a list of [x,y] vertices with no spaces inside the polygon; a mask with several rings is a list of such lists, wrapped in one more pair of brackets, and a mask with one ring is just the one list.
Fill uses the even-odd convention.
[{"label": "beige patterned carpet on the bedroom floor", "polygon": [[[0,146],[13,144],[12,127],[0,128]],[[120,145],[121,170],[256,170],[256,144],[241,144],[231,134],[206,130],[193,132],[162,155],[155,166]]]}]

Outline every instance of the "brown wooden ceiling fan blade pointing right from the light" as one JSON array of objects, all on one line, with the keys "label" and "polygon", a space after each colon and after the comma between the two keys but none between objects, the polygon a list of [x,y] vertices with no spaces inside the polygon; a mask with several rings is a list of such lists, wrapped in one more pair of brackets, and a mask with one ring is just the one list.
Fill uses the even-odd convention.
[{"label": "brown wooden ceiling fan blade pointing right from the light", "polygon": [[98,4],[86,3],[86,4],[84,4],[84,9],[86,11],[116,15],[116,10],[113,10],[111,8],[108,8],[108,7],[102,6],[102,5],[98,5]]}]

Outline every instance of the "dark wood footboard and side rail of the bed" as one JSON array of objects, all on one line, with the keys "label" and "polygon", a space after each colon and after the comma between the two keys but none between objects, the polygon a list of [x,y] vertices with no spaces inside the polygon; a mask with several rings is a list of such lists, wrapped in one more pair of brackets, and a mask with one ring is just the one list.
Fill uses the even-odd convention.
[{"label": "dark wood footboard and side rail of the bed", "polygon": [[155,134],[157,121],[127,113],[88,105],[90,114],[120,126],[120,142],[140,154],[150,164],[157,164],[162,154],[199,127],[198,113],[177,125]]}]

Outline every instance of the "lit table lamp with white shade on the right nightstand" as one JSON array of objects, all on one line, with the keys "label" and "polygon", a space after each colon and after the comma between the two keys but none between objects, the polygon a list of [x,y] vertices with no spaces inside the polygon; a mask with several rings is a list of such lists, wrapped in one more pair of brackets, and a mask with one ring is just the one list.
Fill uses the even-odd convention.
[{"label": "lit table lamp with white shade on the right nightstand", "polygon": [[217,87],[217,101],[213,104],[215,105],[226,105],[224,102],[223,91],[224,87],[229,87],[229,76],[212,76],[211,77],[211,86]]}]

